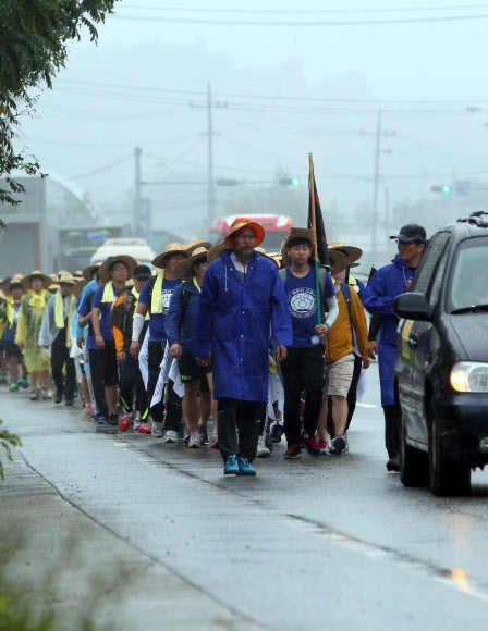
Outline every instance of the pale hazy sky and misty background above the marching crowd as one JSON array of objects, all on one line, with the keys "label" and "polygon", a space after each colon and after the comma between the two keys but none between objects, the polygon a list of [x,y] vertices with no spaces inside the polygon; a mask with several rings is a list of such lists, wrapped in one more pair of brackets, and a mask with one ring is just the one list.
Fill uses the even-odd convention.
[{"label": "pale hazy sky and misty background above the marching crowd", "polygon": [[[376,157],[385,234],[412,220],[431,231],[484,208],[488,3],[242,7],[118,2],[98,47],[87,36],[72,44],[20,143],[106,223],[132,221],[139,147],[152,226],[204,233],[210,84],[213,180],[245,183],[216,186],[217,214],[278,206],[304,225],[308,152],[329,239],[369,238]],[[278,174],[302,185],[280,186]],[[430,190],[442,184],[453,187],[449,195]]]}]

